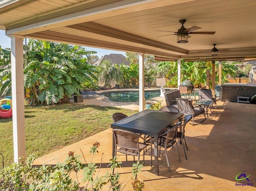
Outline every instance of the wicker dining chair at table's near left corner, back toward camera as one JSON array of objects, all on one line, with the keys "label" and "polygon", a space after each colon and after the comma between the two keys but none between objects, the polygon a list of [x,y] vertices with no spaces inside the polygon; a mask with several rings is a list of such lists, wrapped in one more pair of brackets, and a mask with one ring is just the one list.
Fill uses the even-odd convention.
[{"label": "wicker dining chair at table's near left corner, back toward camera", "polygon": [[[143,150],[143,161],[144,161],[144,148],[149,146],[149,144],[139,142],[142,138],[138,134],[126,130],[113,129],[113,134],[115,138],[115,156],[116,152],[120,152],[126,155],[133,156],[133,161],[135,162],[135,156],[138,156],[138,161],[140,160],[140,152]],[[117,147],[120,147],[117,149]]]}]

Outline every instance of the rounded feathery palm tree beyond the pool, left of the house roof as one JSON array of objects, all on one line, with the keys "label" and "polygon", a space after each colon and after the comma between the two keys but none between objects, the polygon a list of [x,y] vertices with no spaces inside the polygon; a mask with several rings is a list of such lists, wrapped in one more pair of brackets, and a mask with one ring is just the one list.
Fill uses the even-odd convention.
[{"label": "rounded feathery palm tree beyond the pool, left of the house roof", "polygon": [[122,72],[110,59],[102,60],[96,67],[98,71],[98,80],[103,83],[103,87],[110,86],[111,81],[119,81],[122,78]]}]

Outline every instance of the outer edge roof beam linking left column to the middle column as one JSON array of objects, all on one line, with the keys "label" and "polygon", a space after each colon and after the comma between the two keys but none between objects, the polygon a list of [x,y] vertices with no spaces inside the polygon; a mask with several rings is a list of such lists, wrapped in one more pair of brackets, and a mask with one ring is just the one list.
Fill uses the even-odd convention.
[{"label": "outer edge roof beam linking left column to the middle column", "polygon": [[48,40],[48,41],[54,41],[54,42],[98,47],[98,48],[105,48],[105,49],[118,50],[118,51],[141,52],[148,55],[158,55],[163,57],[174,57],[174,58],[177,57],[177,55],[165,53],[162,51],[154,51],[152,49],[144,49],[136,46],[112,43],[112,42],[101,41],[97,39],[90,39],[86,37],[79,37],[79,36],[52,32],[52,31],[32,33],[27,35],[27,37],[32,39],[42,39],[42,40]]}]

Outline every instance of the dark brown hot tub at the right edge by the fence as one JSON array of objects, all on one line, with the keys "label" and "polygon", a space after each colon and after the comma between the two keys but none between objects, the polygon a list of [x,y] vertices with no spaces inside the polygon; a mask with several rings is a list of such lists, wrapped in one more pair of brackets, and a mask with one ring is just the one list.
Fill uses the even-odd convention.
[{"label": "dark brown hot tub at the right edge by the fence", "polygon": [[256,84],[224,83],[221,85],[221,100],[237,102],[238,96],[252,97],[256,95]]}]

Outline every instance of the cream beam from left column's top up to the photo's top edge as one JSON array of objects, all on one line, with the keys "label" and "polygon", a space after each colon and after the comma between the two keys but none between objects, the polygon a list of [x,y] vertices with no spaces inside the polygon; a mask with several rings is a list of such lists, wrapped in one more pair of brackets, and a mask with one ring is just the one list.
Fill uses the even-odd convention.
[{"label": "cream beam from left column's top up to the photo's top edge", "polygon": [[74,6],[64,7],[58,10],[36,15],[6,26],[6,34],[25,35],[52,28],[64,27],[72,24],[89,22],[96,19],[118,16],[126,13],[152,9],[170,4],[177,4],[187,0],[119,0],[113,2],[81,2]]}]

